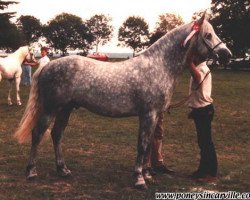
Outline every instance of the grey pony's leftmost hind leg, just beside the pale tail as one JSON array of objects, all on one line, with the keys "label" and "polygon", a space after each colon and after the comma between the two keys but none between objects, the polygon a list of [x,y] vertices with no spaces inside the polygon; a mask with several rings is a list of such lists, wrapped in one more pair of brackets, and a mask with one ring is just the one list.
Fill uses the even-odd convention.
[{"label": "grey pony's leftmost hind leg, just beside the pale tail", "polygon": [[35,128],[32,130],[32,145],[30,150],[30,158],[28,161],[28,165],[26,167],[26,178],[34,179],[37,177],[36,171],[36,156],[37,156],[37,147],[41,142],[41,139],[48,129],[50,124],[50,117],[45,114],[41,114],[38,123]]}]

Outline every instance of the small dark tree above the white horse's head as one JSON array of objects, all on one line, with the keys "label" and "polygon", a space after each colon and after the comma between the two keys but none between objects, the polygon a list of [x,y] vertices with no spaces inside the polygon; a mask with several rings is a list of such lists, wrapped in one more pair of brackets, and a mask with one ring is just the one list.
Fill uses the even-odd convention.
[{"label": "small dark tree above the white horse's head", "polygon": [[19,30],[25,36],[25,41],[30,44],[38,41],[42,34],[42,24],[39,19],[26,15],[21,16],[17,20]]}]

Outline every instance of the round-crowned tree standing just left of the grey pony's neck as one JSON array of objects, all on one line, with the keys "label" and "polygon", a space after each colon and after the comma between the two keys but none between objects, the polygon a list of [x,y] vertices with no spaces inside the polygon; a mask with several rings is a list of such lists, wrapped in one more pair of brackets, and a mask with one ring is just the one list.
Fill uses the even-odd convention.
[{"label": "round-crowned tree standing just left of the grey pony's neck", "polygon": [[119,45],[131,47],[133,54],[148,46],[148,24],[142,17],[129,17],[118,31]]}]

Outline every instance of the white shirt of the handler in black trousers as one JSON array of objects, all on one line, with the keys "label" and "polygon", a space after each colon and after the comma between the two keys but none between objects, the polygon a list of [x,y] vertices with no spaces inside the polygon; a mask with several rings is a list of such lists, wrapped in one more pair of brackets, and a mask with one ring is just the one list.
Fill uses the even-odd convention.
[{"label": "white shirt of the handler in black trousers", "polygon": [[[201,75],[201,86],[198,87],[198,83],[193,80],[193,77],[190,79],[189,84],[189,100],[188,106],[191,108],[201,108],[213,103],[213,99],[211,98],[212,93],[212,75],[209,73],[209,68],[206,62],[199,64],[196,69]],[[206,74],[209,73],[207,76]],[[206,78],[205,78],[206,76]],[[205,79],[204,79],[205,78]]]}]

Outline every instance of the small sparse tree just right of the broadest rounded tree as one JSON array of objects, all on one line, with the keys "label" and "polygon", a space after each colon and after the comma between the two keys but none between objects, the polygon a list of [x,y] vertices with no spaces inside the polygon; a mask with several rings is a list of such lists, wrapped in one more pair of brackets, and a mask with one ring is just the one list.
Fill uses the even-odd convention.
[{"label": "small sparse tree just right of the broadest rounded tree", "polygon": [[112,38],[113,26],[110,25],[111,18],[101,15],[94,15],[86,24],[94,37],[94,45],[98,52],[98,45],[105,45]]}]

